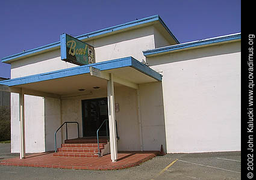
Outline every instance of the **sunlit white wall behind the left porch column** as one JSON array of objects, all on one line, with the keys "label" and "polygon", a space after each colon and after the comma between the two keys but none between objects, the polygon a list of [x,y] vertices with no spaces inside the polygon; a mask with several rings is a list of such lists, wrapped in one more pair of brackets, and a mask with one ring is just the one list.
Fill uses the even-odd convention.
[{"label": "sunlit white wall behind the left porch column", "polygon": [[[25,95],[26,152],[45,152],[45,111],[42,97]],[[31,104],[33,102],[33,105]],[[20,152],[19,94],[11,93],[11,152]],[[36,108],[35,108],[36,107]]]}]

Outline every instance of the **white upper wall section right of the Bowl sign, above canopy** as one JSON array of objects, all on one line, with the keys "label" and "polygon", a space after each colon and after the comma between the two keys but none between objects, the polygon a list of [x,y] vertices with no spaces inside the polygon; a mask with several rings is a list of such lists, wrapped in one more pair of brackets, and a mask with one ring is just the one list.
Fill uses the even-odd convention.
[{"label": "white upper wall section right of the Bowl sign, above canopy", "polygon": [[154,28],[146,26],[86,41],[86,43],[92,44],[95,47],[96,62],[128,56],[133,56],[138,61],[142,61],[142,59],[145,60],[142,51],[155,48]]}]

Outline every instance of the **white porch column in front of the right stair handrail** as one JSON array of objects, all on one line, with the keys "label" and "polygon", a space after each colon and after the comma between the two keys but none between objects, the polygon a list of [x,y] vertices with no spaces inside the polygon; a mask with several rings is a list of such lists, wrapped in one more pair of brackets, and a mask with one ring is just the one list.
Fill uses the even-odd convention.
[{"label": "white porch column in front of the right stair handrail", "polygon": [[108,120],[110,127],[110,153],[112,162],[117,160],[117,140],[116,140],[116,117],[114,112],[114,83],[113,75],[110,74],[108,80]]}]

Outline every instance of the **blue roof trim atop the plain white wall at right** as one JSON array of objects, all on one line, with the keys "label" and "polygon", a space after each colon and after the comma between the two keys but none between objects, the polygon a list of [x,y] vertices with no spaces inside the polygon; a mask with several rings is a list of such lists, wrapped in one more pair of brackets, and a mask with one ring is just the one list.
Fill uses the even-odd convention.
[{"label": "blue roof trim atop the plain white wall at right", "polygon": [[172,46],[160,47],[157,49],[145,50],[145,51],[143,51],[143,55],[151,56],[151,55],[157,55],[157,54],[165,53],[165,52],[172,52],[174,50],[184,50],[184,49],[191,48],[191,47],[205,46],[208,44],[222,43],[225,41],[233,41],[233,40],[239,40],[239,39],[241,39],[241,32],[237,33],[237,34],[225,35],[222,37],[209,38],[206,40],[199,40],[199,41],[193,41],[193,42],[189,42],[189,43],[175,44]]}]

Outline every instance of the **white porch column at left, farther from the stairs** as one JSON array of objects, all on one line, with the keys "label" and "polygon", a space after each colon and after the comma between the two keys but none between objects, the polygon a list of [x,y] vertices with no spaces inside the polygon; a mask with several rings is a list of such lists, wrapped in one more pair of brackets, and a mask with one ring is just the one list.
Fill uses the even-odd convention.
[{"label": "white porch column at left, farther from the stairs", "polygon": [[24,115],[24,89],[19,94],[19,121],[20,121],[20,159],[25,158],[25,115]]}]

